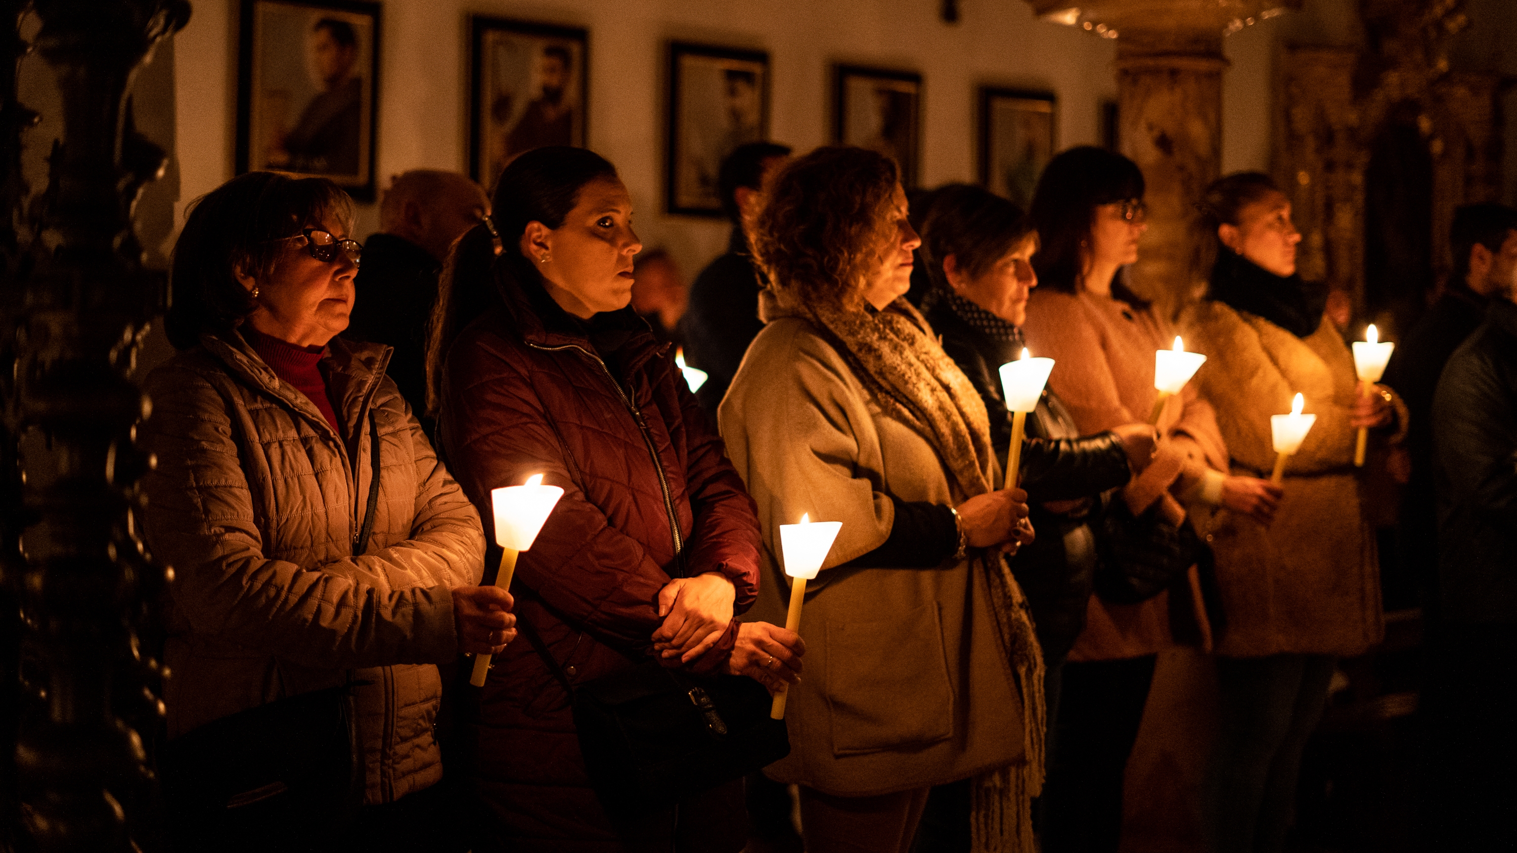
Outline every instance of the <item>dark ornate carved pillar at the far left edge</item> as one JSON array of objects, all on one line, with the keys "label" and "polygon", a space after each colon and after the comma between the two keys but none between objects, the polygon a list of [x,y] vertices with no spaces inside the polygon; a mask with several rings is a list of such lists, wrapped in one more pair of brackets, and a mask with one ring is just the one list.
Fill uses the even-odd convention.
[{"label": "dark ornate carved pillar at the far left edge", "polygon": [[[52,462],[46,477],[27,477],[24,458],[0,471],[0,495],[14,489],[23,503],[21,512],[8,512],[0,541],[18,551],[0,567],[24,626],[15,791],[30,835],[26,848],[152,848],[144,736],[152,738],[162,715],[152,615],[167,577],[146,556],[132,515],[137,479],[152,461],[135,447],[146,398],[130,374],[167,288],[161,274],[143,270],[132,206],[165,161],[132,130],[127,92],[153,47],[188,21],[190,5],[32,6],[41,20],[35,47],[61,94],[58,105],[33,106],[56,109],[64,130],[49,159],[39,223],[23,221],[15,250],[0,252],[8,261],[0,355],[12,368],[0,386],[6,447],[39,430]],[[21,6],[8,2],[5,9]],[[8,26],[15,23],[9,14]],[[14,29],[8,38],[17,38]],[[5,89],[0,145],[14,142],[24,124],[12,109],[14,91]],[[0,186],[9,227],[20,220],[24,191],[9,150],[6,158]]]}]

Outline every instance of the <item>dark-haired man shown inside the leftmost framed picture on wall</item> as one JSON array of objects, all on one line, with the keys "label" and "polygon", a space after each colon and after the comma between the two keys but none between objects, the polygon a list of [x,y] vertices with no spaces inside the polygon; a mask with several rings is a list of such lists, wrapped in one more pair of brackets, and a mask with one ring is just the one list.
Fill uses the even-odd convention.
[{"label": "dark-haired man shown inside the leftmost framed picture on wall", "polygon": [[364,86],[363,77],[353,74],[358,36],[353,24],[337,18],[322,18],[311,35],[311,53],[323,88],[305,105],[300,121],[284,138],[285,168],[358,174]]}]

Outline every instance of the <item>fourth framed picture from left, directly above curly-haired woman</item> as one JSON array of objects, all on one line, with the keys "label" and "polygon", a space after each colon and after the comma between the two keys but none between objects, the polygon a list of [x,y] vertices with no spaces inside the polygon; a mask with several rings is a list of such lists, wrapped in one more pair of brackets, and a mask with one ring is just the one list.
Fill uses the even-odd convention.
[{"label": "fourth framed picture from left, directly above curly-haired woman", "polygon": [[912,71],[837,67],[833,139],[894,158],[910,189],[921,174],[922,76]]}]

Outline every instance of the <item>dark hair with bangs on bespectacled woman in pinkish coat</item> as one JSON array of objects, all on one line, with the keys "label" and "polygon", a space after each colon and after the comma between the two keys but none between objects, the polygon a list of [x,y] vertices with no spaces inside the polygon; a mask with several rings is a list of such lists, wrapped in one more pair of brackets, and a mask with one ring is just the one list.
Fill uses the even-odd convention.
[{"label": "dark hair with bangs on bespectacled woman in pinkish coat", "polygon": [[1142,198],[1142,192],[1138,164],[1106,148],[1079,145],[1048,161],[1029,211],[1042,241],[1033,256],[1039,283],[1074,292],[1085,273],[1080,244],[1091,238],[1095,208]]}]

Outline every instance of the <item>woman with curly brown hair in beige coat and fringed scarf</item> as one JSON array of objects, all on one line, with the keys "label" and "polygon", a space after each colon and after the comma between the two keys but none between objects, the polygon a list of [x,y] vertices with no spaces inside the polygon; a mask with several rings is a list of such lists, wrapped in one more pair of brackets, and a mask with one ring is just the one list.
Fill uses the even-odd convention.
[{"label": "woman with curly brown hair in beige coat and fringed scarf", "polygon": [[[807,586],[790,756],[810,850],[909,848],[933,785],[975,777],[977,844],[1032,850],[1041,658],[1000,559],[1030,541],[985,405],[900,298],[921,242],[892,161],[818,148],[778,174],[754,252],[766,326],[721,406],[766,544],[748,618],[784,618],[780,524],[842,521]],[[813,674],[815,673],[815,674]]]}]

